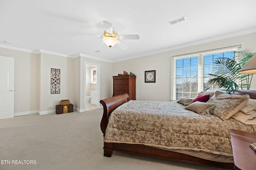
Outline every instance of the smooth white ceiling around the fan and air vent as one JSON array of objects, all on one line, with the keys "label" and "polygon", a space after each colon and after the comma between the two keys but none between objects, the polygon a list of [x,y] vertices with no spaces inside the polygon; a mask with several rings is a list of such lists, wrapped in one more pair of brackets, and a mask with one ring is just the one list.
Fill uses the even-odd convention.
[{"label": "smooth white ceiling around the fan and air vent", "polygon": [[[256,32],[255,7],[256,0],[0,0],[0,47],[122,61]],[[95,53],[102,38],[78,32],[103,35],[103,20],[140,39]]]}]

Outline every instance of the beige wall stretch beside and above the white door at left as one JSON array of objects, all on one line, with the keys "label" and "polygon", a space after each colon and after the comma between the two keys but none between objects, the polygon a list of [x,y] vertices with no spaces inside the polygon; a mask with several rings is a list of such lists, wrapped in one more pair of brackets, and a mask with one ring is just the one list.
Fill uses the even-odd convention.
[{"label": "beige wall stretch beside and above the white door at left", "polygon": [[0,55],[14,58],[14,113],[34,113],[39,108],[39,55],[5,48]]}]

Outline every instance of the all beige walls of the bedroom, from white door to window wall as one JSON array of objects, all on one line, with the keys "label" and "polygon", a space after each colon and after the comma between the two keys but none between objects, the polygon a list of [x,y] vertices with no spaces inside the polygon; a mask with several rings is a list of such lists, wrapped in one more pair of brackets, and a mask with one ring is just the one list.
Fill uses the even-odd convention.
[{"label": "all beige walls of the bedroom, from white door to window wall", "polygon": [[[99,100],[112,96],[112,76],[134,72],[136,78],[137,100],[170,101],[171,56],[196,51],[204,51],[242,44],[243,49],[256,51],[256,33],[204,43],[192,47],[176,49],[164,53],[148,55],[118,63],[108,63],[78,56],[75,59],[35,54],[0,48],[0,55],[14,58],[14,113],[54,113],[55,105],[62,99],[69,99],[78,111],[84,111],[84,64],[95,63],[100,66]],[[50,68],[60,68],[60,94],[50,94]],[[144,83],[144,71],[156,70],[156,83]],[[251,90],[256,90],[256,76]],[[99,106],[101,106],[99,104]]]}]

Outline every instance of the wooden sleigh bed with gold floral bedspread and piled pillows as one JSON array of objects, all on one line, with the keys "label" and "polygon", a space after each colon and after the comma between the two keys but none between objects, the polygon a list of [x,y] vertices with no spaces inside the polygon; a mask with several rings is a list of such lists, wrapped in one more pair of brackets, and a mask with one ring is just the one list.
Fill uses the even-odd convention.
[{"label": "wooden sleigh bed with gold floral bedspread and piled pillows", "polygon": [[[203,114],[192,111],[193,107],[184,109],[198,104],[198,101],[193,104],[129,101],[128,94],[100,100],[104,108],[100,123],[104,136],[104,156],[111,157],[113,151],[120,151],[194,164],[234,168],[229,130],[238,129],[256,133],[256,125],[238,121],[244,115],[247,116],[246,119],[248,118],[249,115],[242,113],[240,109],[247,108],[248,101],[256,99],[256,90],[228,93],[225,90],[208,89],[201,93],[211,94],[210,99],[203,104],[208,104],[210,107]],[[235,109],[229,108],[230,111],[226,115],[218,115],[218,111],[225,108],[221,106],[216,108],[217,103],[214,102],[223,103],[225,100],[232,101],[233,104],[233,101],[239,100],[240,104],[234,106]],[[197,105],[195,106],[198,108]],[[215,115],[211,114],[213,112]],[[237,116],[238,112],[241,113]]]}]

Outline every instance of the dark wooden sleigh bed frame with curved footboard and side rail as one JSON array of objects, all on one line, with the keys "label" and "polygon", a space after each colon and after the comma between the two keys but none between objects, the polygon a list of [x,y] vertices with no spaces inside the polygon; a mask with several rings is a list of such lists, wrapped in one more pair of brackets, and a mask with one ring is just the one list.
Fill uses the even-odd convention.
[{"label": "dark wooden sleigh bed frame with curved footboard and side rail", "polygon": [[[256,99],[256,90],[238,90],[236,92],[231,92],[231,94],[249,94],[250,98]],[[122,105],[125,102],[129,101],[128,94],[120,94],[112,98],[100,100],[100,103],[103,106],[104,112],[102,120],[100,122],[100,128],[105,136],[106,128],[108,125],[108,117],[118,106]],[[119,152],[128,152],[132,154],[139,154],[144,156],[150,156],[154,158],[168,159],[168,160],[177,160],[182,162],[215,166],[220,168],[233,169],[234,163],[225,163],[225,162],[215,162],[211,160],[205,160],[202,158],[197,158],[187,154],[182,154],[178,152],[172,152],[169,150],[162,150],[146,145],[141,144],[126,144],[126,143],[105,143],[104,142],[104,156],[111,157],[113,150]]]}]

